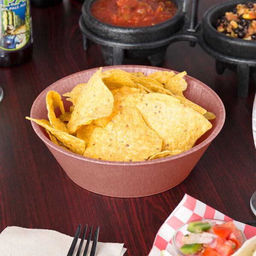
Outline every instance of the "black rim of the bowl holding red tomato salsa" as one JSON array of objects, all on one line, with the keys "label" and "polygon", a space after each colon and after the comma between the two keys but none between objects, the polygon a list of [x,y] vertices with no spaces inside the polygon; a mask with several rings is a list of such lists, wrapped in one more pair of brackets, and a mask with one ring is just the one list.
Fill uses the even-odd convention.
[{"label": "black rim of the bowl holding red tomato salsa", "polygon": [[182,18],[184,16],[182,1],[173,0],[173,3],[175,3],[175,6],[177,7],[177,11],[176,11],[175,15],[173,15],[173,17],[169,18],[168,20],[165,20],[165,21],[158,23],[154,26],[140,26],[140,27],[115,26],[115,25],[111,25],[111,24],[102,22],[91,14],[90,8],[95,1],[96,0],[84,1],[83,5],[82,5],[82,16],[88,17],[89,20],[93,20],[93,23],[95,23],[98,26],[101,26],[101,27],[107,26],[108,29],[111,29],[113,32],[119,32],[119,33],[121,33],[121,32],[125,32],[125,33],[126,32],[136,32],[136,31],[140,32],[142,29],[145,30],[145,32],[148,32],[151,30],[157,30],[157,29],[160,29],[162,26],[167,26],[167,27],[170,26],[169,23],[173,23],[173,25],[175,25],[175,23],[177,23],[178,20],[180,20],[180,18]]}]

